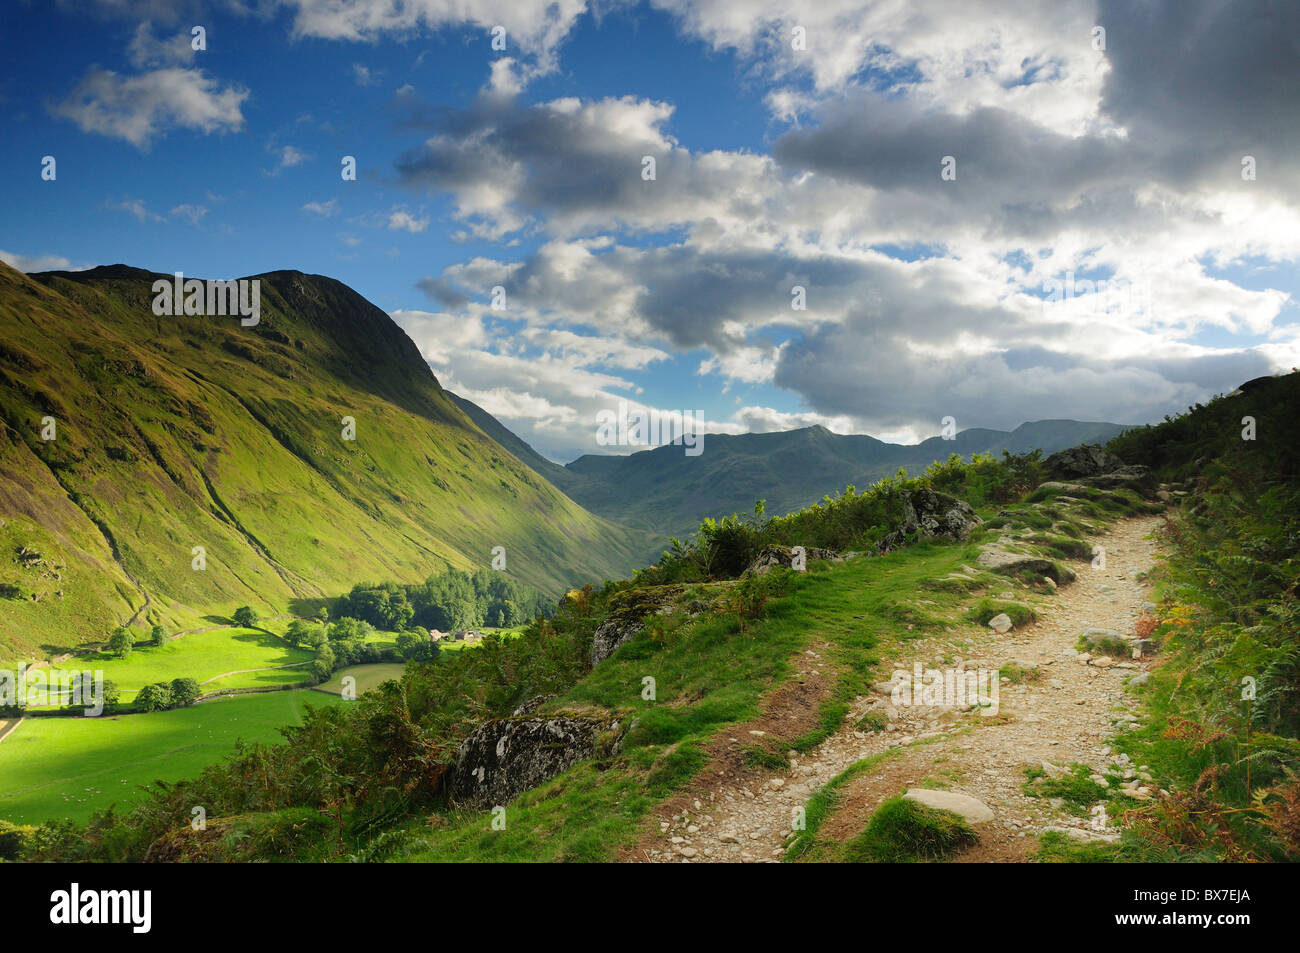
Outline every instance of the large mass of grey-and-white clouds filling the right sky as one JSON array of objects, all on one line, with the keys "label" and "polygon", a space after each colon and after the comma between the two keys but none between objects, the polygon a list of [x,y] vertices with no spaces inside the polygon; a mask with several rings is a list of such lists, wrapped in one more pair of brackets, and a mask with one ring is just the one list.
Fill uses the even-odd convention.
[{"label": "large mass of grey-and-white clouds filling the right sky", "polygon": [[439,308],[489,313],[500,285],[537,342],[703,350],[698,377],[805,407],[727,421],[754,429],[1128,423],[1295,363],[1290,295],[1223,274],[1300,259],[1300,125],[1279,121],[1300,90],[1294,5],[658,5],[751,64],[792,125],[770,155],[693,152],[671,103],[525,104],[494,70],[469,107],[424,111],[396,173],[450,195],[472,235],[547,239],[424,278]]}]

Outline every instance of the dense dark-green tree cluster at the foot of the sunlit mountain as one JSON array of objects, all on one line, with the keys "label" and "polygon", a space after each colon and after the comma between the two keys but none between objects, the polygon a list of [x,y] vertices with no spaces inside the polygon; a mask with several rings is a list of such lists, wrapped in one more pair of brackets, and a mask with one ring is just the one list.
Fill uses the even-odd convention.
[{"label": "dense dark-green tree cluster at the foot of the sunlit mountain", "polygon": [[450,569],[415,585],[358,584],[338,599],[334,612],[387,632],[411,625],[458,632],[478,625],[524,625],[537,616],[550,618],[554,606],[532,586],[500,572],[480,569],[469,575]]}]

